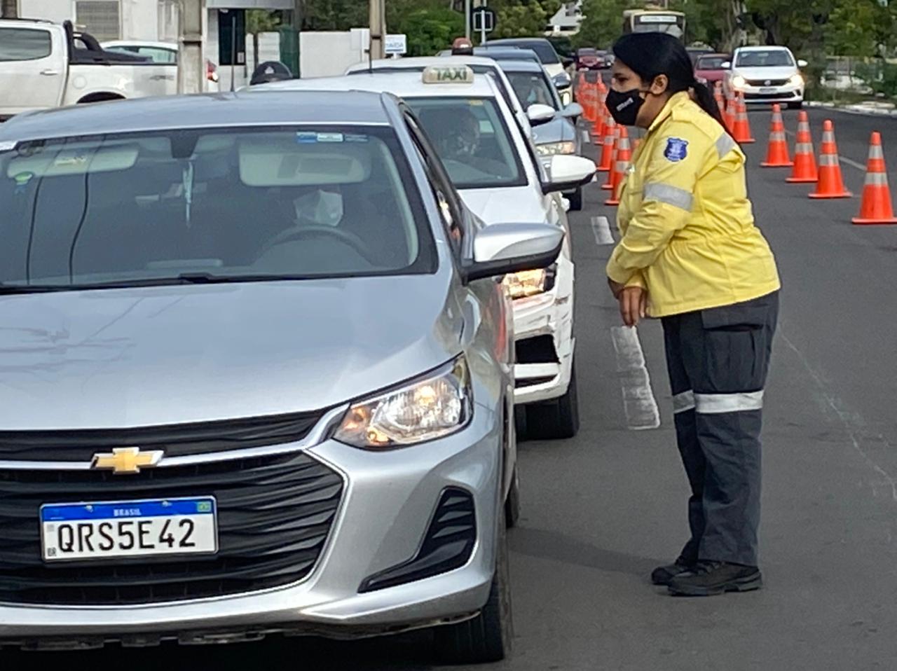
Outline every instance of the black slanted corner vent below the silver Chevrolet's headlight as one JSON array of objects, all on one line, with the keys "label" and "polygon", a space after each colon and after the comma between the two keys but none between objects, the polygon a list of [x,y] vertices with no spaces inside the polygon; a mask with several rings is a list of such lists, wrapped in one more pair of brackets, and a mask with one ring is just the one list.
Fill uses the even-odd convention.
[{"label": "black slanted corner vent below the silver Chevrolet's headlight", "polygon": [[373,592],[459,569],[470,559],[474,545],[474,497],[463,489],[448,487],[440,496],[430,527],[414,557],[364,579],[358,591]]}]

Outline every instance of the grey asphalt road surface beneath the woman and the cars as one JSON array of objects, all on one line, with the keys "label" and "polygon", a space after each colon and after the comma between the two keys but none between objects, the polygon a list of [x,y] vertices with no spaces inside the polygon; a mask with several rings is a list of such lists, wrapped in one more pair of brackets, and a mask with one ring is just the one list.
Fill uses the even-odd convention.
[{"label": "grey asphalt road surface beneath the woman and the cars", "polygon": [[[611,246],[598,245],[592,227],[593,217],[613,212],[599,205],[605,192],[590,187],[586,211],[572,216],[582,431],[520,446],[524,515],[510,534],[516,649],[492,668],[897,668],[897,227],[852,226],[858,198],[811,201],[807,187],[784,183],[787,170],[759,168],[769,115],[750,116],[759,140],[747,149],[751,195],[785,287],[766,400],[766,587],[687,599],[649,585],[651,568],[684,542],[687,488],[656,322],[639,336],[660,426],[630,428],[640,418],[627,414],[624,398],[638,376],[614,348],[619,318],[603,277]],[[811,117],[818,149],[823,114]],[[897,186],[897,120],[832,118],[840,153],[857,163],[869,132],[883,131]],[[797,126],[794,113],[787,125]],[[858,193],[862,171],[843,170]],[[431,668],[431,641],[415,633],[3,659],[10,669],[76,664],[411,671]]]}]

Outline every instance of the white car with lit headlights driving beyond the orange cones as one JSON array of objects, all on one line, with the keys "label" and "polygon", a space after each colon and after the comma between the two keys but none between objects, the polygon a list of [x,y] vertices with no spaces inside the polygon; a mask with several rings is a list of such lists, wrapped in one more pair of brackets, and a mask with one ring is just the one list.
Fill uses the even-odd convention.
[{"label": "white car with lit headlights driving beyond the orange cones", "polygon": [[787,47],[742,47],[732,60],[724,85],[728,92],[743,92],[745,102],[779,102],[790,109],[804,104],[805,82],[800,68],[806,61],[796,60]]}]

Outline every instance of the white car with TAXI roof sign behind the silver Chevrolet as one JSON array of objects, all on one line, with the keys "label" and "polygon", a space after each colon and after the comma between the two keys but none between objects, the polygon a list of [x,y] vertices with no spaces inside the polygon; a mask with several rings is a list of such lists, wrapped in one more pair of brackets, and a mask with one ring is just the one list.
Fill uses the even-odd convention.
[{"label": "white car with TAXI roof sign behind the silver Chevrolet", "polygon": [[514,306],[515,402],[521,408],[518,420],[525,419],[518,427],[537,438],[575,435],[574,267],[560,194],[587,183],[595,172],[593,161],[556,155],[549,181],[532,139],[514,122],[492,77],[475,76],[466,66],[291,80],[253,89],[394,93],[419,119],[466,205],[483,222],[547,222],[568,233],[554,266],[507,275],[504,283]]}]

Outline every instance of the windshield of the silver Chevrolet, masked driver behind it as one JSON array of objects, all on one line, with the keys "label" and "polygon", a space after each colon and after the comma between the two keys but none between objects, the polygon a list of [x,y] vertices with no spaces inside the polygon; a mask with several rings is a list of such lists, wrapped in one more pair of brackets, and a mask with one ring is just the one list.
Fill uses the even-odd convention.
[{"label": "windshield of the silver Chevrolet, masked driver behind it", "polygon": [[22,143],[0,153],[0,292],[432,272],[427,219],[405,184],[389,128]]}]

